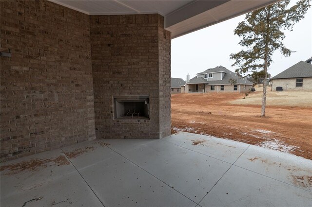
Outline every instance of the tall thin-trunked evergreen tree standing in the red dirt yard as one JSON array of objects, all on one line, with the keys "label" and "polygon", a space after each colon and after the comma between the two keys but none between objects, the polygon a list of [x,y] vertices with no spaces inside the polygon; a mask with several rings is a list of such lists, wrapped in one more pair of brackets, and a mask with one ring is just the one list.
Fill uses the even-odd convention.
[{"label": "tall thin-trunked evergreen tree standing in the red dirt yard", "polygon": [[[284,31],[292,31],[293,25],[304,18],[305,13],[311,7],[311,0],[299,0],[288,9],[289,3],[290,0],[283,0],[250,12],[244,21],[238,24],[234,34],[242,38],[239,45],[246,50],[230,55],[231,59],[235,60],[232,66],[238,67],[236,72],[243,74],[248,71],[263,70],[264,77],[267,77],[274,51],[279,50],[286,57],[291,55],[293,51],[283,44]],[[266,86],[265,78],[261,117],[265,116]]]}]

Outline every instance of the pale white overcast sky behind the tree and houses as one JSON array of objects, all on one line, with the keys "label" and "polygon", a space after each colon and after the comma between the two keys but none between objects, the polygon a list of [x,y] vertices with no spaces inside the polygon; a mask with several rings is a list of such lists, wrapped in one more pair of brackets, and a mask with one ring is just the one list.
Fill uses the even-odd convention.
[{"label": "pale white overcast sky behind the tree and houses", "polygon": [[[291,1],[290,5],[295,4],[296,1]],[[274,52],[273,63],[268,71],[272,77],[312,56],[312,8],[305,16],[294,25],[292,32],[285,32],[285,46],[296,52],[290,57]],[[171,77],[186,80],[187,73],[190,74],[190,78],[193,78],[196,73],[220,65],[234,71],[236,68],[231,67],[234,60],[230,60],[230,54],[242,49],[238,45],[240,38],[234,35],[234,29],[244,18],[245,15],[235,17],[173,39]]]}]

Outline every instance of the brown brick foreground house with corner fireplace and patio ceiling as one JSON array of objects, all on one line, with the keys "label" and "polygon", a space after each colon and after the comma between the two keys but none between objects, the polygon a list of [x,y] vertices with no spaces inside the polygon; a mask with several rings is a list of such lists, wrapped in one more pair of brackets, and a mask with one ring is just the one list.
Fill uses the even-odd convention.
[{"label": "brown brick foreground house with corner fireplace and patio ceiling", "polygon": [[1,161],[169,136],[171,39],[273,2],[1,0]]}]

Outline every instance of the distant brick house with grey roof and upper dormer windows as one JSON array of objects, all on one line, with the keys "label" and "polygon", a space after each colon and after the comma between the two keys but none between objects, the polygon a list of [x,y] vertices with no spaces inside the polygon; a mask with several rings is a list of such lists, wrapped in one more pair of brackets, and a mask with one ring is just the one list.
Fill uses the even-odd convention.
[{"label": "distant brick house with grey roof and upper dormer windows", "polygon": [[[210,92],[248,92],[253,83],[237,73],[217,66],[197,73],[194,78],[185,84],[185,93],[210,93]],[[183,88],[182,88],[183,92]]]}]

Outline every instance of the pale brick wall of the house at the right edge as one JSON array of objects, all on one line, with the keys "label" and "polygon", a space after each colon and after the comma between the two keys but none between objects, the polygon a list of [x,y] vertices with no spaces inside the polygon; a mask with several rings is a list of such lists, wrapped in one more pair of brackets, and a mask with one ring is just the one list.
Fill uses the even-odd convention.
[{"label": "pale brick wall of the house at the right edge", "polygon": [[273,79],[272,90],[276,91],[276,87],[282,86],[283,90],[312,90],[312,77],[303,78],[303,84],[296,86],[296,78]]}]

